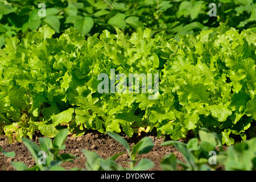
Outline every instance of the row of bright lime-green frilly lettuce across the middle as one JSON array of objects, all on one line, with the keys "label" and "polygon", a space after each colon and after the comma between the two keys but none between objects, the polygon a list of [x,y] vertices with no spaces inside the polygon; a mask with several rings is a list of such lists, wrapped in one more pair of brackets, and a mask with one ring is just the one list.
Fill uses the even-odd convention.
[{"label": "row of bright lime-green frilly lettuce across the middle", "polygon": [[[156,131],[174,140],[206,127],[228,145],[255,136],[255,32],[222,24],[178,42],[164,31],[151,38],[144,27],[131,36],[115,31],[86,39],[69,28],[54,38],[43,26],[7,38],[0,49],[0,132],[10,142],[37,130],[55,137],[64,127],[75,135]],[[157,97],[142,93],[142,81],[139,93],[99,93],[98,76],[113,69],[126,77],[158,74]]]}]

